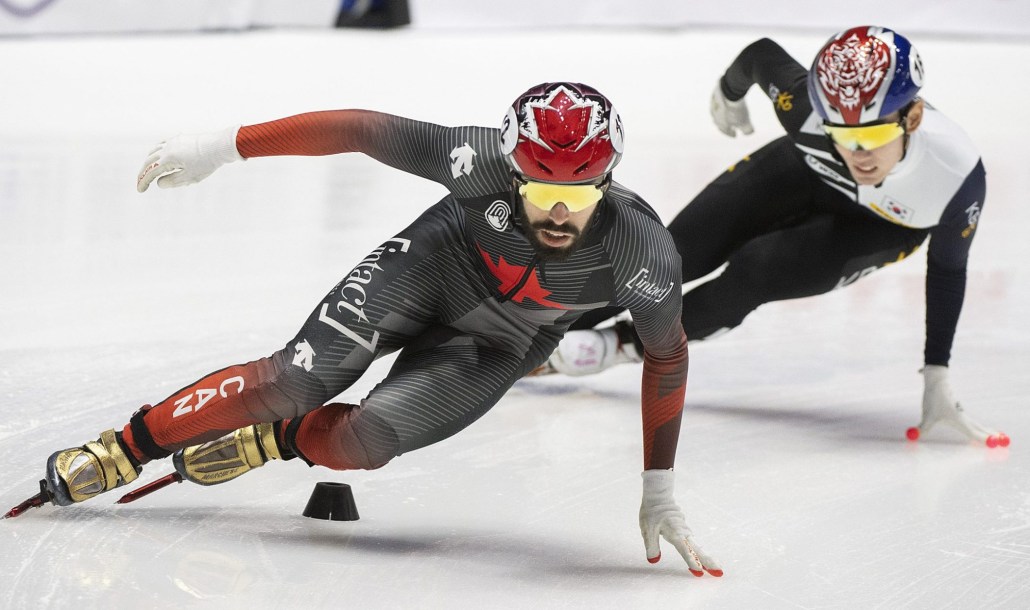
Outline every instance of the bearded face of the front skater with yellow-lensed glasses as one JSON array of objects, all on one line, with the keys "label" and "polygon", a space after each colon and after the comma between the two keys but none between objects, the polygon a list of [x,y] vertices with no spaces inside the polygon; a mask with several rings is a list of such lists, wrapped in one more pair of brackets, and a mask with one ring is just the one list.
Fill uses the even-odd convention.
[{"label": "bearded face of the front skater with yellow-lensed glasses", "polygon": [[583,240],[606,185],[522,182],[526,237],[544,261],[569,258]]}]

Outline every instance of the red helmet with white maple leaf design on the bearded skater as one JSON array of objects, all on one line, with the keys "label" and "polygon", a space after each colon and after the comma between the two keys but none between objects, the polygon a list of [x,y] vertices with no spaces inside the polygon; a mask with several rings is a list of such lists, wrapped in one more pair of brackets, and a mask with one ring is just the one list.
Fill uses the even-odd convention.
[{"label": "red helmet with white maple leaf design on the bearded skater", "polygon": [[528,179],[595,182],[622,158],[622,121],[608,98],[578,82],[545,82],[508,108],[501,148]]}]

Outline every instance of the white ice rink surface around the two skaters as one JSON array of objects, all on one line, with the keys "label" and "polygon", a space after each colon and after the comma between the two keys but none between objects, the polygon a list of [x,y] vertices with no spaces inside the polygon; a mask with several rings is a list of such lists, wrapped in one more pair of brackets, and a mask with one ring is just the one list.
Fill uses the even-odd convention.
[{"label": "white ice rink surface around the two skaters", "polygon": [[[492,126],[528,86],[582,80],[624,118],[617,179],[671,219],[782,133],[757,91],[755,135],[726,138],[708,115],[716,78],[762,34],[803,63],[825,38],[0,40],[0,508],[38,489],[53,451],[281,347],[353,264],[443,195],[359,156],[252,160],[139,195],[137,170],[163,137],[343,107]],[[925,98],[966,127],[988,169],[952,376],[1007,449],[948,430],[904,439],[922,392],[917,256],[692,344],[678,499],[721,579],[690,576],[668,545],[645,560],[640,368],[624,366],[519,382],[461,434],[375,472],[273,463],[222,486],[0,521],[0,607],[1026,608],[1030,44],[911,37]],[[388,364],[342,398],[359,400]],[[170,471],[151,465],[140,481]],[[323,480],[352,486],[359,520],[301,515]]]}]

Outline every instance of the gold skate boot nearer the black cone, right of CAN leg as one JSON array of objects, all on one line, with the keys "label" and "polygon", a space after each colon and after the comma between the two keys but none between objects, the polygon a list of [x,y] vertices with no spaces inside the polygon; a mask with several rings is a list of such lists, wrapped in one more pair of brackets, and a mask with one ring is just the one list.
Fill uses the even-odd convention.
[{"label": "gold skate boot nearer the black cone, right of CAN leg", "polygon": [[176,472],[201,485],[231,481],[270,460],[282,460],[272,423],[241,428],[219,439],[179,449],[172,455]]}]

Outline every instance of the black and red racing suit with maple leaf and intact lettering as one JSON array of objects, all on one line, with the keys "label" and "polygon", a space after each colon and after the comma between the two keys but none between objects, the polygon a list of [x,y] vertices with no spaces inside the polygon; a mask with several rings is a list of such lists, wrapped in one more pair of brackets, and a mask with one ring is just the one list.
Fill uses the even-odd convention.
[{"label": "black and red racing suit with maple leaf and intact lettering", "polygon": [[[469,426],[543,363],[583,312],[617,306],[632,313],[647,352],[645,468],[671,468],[687,351],[668,232],[640,197],[612,183],[581,247],[564,261],[538,260],[500,143],[496,129],[364,110],[241,129],[245,158],[362,151],[450,194],[347,273],[281,350],[212,373],[134,416],[124,432],[134,453],[162,458],[250,423],[290,419],[284,442],[307,461],[377,468]],[[360,406],[323,406],[397,350]]]}]

